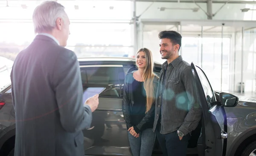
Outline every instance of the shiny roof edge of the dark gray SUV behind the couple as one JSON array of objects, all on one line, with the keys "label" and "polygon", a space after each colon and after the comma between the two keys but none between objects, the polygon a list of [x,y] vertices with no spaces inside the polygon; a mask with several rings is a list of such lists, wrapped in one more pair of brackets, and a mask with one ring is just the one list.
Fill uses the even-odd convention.
[{"label": "shiny roof edge of the dark gray SUV behind the couple", "polygon": [[[136,58],[134,57],[78,57],[80,65],[104,65],[104,64],[116,64],[116,65],[131,65],[135,64]],[[157,67],[161,66],[161,63],[154,62]]]}]

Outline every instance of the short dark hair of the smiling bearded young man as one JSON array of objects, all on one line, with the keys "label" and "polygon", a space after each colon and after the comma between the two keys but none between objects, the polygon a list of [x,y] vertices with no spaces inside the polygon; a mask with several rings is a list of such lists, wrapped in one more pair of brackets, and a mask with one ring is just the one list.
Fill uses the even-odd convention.
[{"label": "short dark hair of the smiling bearded young man", "polygon": [[[181,35],[177,31],[161,31],[158,34],[159,39],[168,38],[171,40],[172,44],[179,44],[181,47]],[[179,48],[180,50],[180,48]]]}]

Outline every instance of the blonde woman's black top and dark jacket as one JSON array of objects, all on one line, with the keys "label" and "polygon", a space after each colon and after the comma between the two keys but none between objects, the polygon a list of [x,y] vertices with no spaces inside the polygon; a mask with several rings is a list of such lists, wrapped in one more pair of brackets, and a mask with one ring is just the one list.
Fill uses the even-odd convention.
[{"label": "blonde woman's black top and dark jacket", "polygon": [[[154,88],[158,84],[158,78],[154,78]],[[154,94],[155,94],[154,93]],[[128,73],[125,77],[122,111],[127,128],[134,127],[136,133],[147,128],[153,128],[155,104],[146,111],[146,92],[144,82],[139,82],[133,77],[133,73]]]}]

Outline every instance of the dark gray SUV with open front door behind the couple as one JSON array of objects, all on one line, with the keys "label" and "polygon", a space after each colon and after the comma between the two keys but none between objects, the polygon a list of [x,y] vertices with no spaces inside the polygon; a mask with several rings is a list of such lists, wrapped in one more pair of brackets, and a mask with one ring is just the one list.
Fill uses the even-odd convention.
[{"label": "dark gray SUV with open front door behind the couple", "polygon": [[[84,89],[106,88],[99,96],[91,128],[83,130],[85,155],[131,156],[122,114],[122,90],[125,75],[136,70],[135,58],[78,60]],[[203,112],[201,122],[192,131],[188,155],[256,156],[256,99],[213,91],[204,71],[191,65]],[[155,63],[154,72],[159,74],[160,70],[160,63]],[[15,113],[11,85],[7,85],[0,90],[0,156],[13,155],[14,145]],[[153,153],[161,153],[157,140]]]}]

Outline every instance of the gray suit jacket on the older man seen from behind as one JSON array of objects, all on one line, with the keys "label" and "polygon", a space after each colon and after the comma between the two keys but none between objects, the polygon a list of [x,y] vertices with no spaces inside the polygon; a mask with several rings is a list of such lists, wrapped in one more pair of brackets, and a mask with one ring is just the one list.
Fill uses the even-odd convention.
[{"label": "gray suit jacket on the older man seen from behind", "polygon": [[82,103],[79,62],[73,51],[37,35],[14,62],[15,156],[84,156],[81,130],[92,112]]}]

